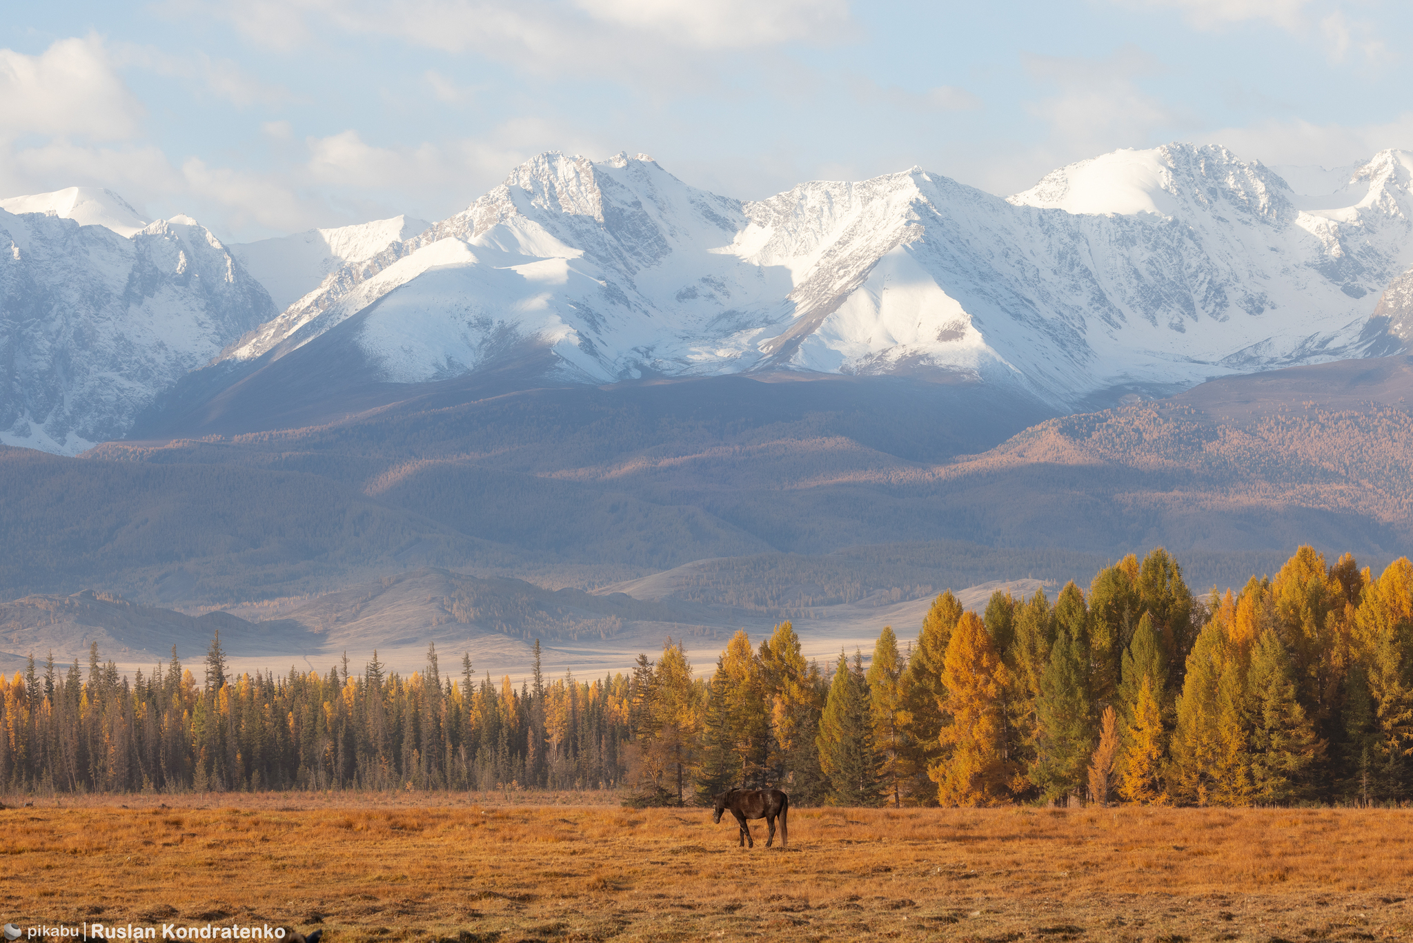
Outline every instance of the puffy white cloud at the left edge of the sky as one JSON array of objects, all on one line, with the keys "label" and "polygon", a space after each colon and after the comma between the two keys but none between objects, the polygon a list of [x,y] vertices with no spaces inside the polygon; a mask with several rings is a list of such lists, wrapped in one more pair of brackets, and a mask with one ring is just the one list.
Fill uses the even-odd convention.
[{"label": "puffy white cloud at the left edge of the sky", "polygon": [[96,35],[58,40],[40,55],[0,49],[0,140],[127,140],[143,115]]}]

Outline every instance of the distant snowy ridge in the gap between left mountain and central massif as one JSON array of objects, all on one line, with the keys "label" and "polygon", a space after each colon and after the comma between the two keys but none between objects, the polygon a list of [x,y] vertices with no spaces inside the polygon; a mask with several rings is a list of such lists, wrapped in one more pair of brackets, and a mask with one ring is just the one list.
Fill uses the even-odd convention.
[{"label": "distant snowy ridge in the gap between left mountain and central massif", "polygon": [[266,287],[276,307],[283,311],[343,266],[366,262],[430,225],[413,216],[394,216],[356,226],[309,229],[292,236],[232,243],[226,247]]}]

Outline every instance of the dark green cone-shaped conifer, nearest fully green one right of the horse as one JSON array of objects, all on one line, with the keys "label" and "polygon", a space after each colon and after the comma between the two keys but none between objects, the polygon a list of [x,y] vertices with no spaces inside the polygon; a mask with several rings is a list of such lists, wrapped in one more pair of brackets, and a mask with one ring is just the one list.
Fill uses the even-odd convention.
[{"label": "dark green cone-shaped conifer, nearest fully green one right of the horse", "polygon": [[838,806],[879,804],[879,756],[869,725],[869,689],[862,653],[855,653],[851,666],[839,652],[815,742],[820,766],[831,783],[829,802]]}]

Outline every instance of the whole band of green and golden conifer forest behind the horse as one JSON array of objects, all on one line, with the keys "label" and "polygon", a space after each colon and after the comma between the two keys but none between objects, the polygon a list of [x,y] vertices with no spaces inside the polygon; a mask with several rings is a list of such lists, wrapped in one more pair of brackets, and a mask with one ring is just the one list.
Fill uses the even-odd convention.
[{"label": "whole band of green and golden conifer forest behind the horse", "polygon": [[1301,547],[1275,577],[1194,595],[1164,550],[1051,599],[952,592],[821,667],[788,622],[738,632],[708,677],[681,643],[627,676],[476,677],[435,649],[326,674],[120,676],[96,648],[3,679],[10,792],[620,789],[797,804],[1392,804],[1413,790],[1413,564],[1375,575]]}]

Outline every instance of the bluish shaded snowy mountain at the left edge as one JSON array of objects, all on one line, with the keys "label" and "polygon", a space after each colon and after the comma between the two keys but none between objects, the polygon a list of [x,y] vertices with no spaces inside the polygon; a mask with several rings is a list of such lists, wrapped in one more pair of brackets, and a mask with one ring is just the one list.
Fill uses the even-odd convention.
[{"label": "bluish shaded snowy mountain at the left edge", "polygon": [[109,191],[59,191],[75,192],[42,212],[0,209],[0,443],[62,454],[120,437],[158,393],[276,312],[195,219],[124,238],[141,222],[131,206]]}]

